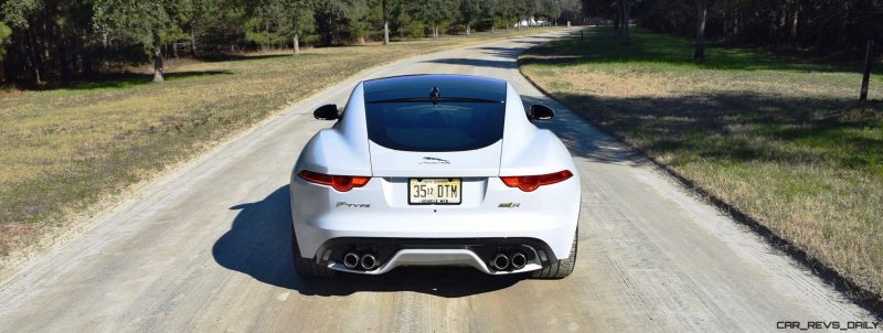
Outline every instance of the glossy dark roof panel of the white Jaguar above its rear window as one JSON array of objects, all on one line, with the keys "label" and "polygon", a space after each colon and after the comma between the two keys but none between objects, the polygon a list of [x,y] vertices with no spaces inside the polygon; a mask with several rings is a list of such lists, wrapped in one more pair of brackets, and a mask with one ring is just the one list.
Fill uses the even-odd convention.
[{"label": "glossy dark roof panel of the white Jaguar above its rear window", "polygon": [[429,98],[433,88],[438,88],[442,98],[506,101],[504,80],[447,74],[406,75],[365,80],[364,97],[365,103]]}]

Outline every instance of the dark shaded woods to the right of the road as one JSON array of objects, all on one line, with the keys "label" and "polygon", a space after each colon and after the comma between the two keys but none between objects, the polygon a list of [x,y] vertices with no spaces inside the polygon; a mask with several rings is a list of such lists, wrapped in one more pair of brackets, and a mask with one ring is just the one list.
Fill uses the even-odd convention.
[{"label": "dark shaded woods to the right of the road", "polygon": [[834,60],[863,60],[869,40],[883,47],[881,0],[583,0],[588,17],[606,18],[630,43],[619,22],[656,32],[693,36],[693,57],[704,60],[704,41],[798,52]]}]

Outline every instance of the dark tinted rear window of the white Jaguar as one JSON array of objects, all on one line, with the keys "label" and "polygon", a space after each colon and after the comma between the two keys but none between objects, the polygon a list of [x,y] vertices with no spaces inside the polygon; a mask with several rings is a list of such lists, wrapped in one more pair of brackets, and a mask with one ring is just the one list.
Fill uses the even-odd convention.
[{"label": "dark tinted rear window of the white Jaguar", "polygon": [[368,137],[404,151],[462,151],[503,137],[506,105],[486,101],[383,101],[366,105]]}]

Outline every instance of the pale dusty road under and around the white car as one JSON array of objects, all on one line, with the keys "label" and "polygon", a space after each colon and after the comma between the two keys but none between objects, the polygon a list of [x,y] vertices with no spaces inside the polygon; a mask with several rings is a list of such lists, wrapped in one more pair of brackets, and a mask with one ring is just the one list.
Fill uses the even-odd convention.
[{"label": "pale dusty road under and around the white car", "polygon": [[[0,331],[776,331],[872,321],[638,155],[544,97],[515,56],[552,35],[411,58],[358,75],[163,178],[0,282]],[[583,176],[579,254],[556,281],[397,269],[309,282],[290,259],[289,172],[361,79],[459,73],[512,82]]]}]

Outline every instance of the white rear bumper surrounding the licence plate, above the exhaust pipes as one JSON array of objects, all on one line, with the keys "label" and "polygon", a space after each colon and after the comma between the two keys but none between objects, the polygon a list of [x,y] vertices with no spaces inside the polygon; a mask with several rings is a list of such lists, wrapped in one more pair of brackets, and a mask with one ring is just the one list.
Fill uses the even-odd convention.
[{"label": "white rear bumper surrounding the licence plate, above the exhaust pipes", "polygon": [[[398,196],[386,197],[384,193],[389,192],[381,187],[387,185],[374,179],[364,189],[341,194],[327,186],[294,180],[291,218],[300,254],[310,258],[320,256],[322,244],[337,238],[529,238],[545,244],[556,258],[570,255],[579,218],[576,179],[531,194],[490,189],[494,191],[487,191],[480,203],[471,206],[392,206],[390,202]],[[487,186],[504,185],[497,179]],[[520,206],[502,204],[508,202]]]}]

